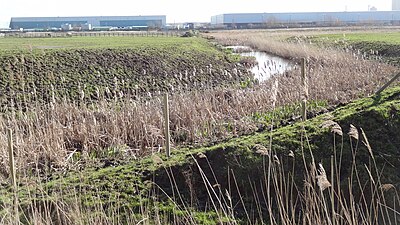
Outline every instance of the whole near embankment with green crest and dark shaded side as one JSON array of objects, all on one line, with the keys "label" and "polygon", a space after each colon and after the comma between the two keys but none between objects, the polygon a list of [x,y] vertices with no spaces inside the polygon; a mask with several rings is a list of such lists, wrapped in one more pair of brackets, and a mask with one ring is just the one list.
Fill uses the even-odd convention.
[{"label": "whole near embankment with green crest and dark shaded side", "polygon": [[[332,122],[338,125],[333,131],[322,127],[323,124]],[[357,138],[354,130],[349,132],[350,124],[357,128]],[[368,139],[363,137],[361,128]],[[308,181],[311,178],[307,177],[307,168],[313,165],[311,159],[314,157],[314,163],[321,162],[325,165],[330,180],[329,165],[331,157],[334,157],[335,164],[332,168],[335,168],[335,180],[331,180],[335,182],[334,192],[339,199],[343,196],[345,196],[343,199],[348,197],[358,199],[346,204],[356,204],[356,207],[368,210],[363,208],[366,206],[364,202],[370,204],[371,199],[374,201],[379,194],[379,191],[374,192],[374,190],[380,190],[384,184],[390,184],[396,190],[400,188],[399,130],[400,87],[395,87],[385,91],[381,96],[356,100],[331,113],[317,116],[307,122],[284,126],[272,132],[264,131],[234,138],[210,147],[174,149],[169,159],[163,154],[155,154],[115,167],[112,166],[112,161],[103,161],[96,168],[67,175],[54,175],[51,177],[52,181],[40,185],[21,182],[19,192],[21,208],[29,211],[26,208],[29,205],[46,203],[50,207],[49,211],[63,214],[58,219],[69,220],[68,222],[76,221],[68,216],[71,212],[64,210],[63,204],[77,204],[81,209],[96,208],[97,211],[100,209],[105,217],[120,216],[118,217],[122,219],[120,222],[127,222],[127,218],[130,222],[147,218],[149,221],[183,223],[217,223],[227,219],[226,223],[233,223],[232,218],[236,218],[236,222],[256,223],[271,216],[271,213],[268,213],[265,187],[266,164],[270,162],[277,165],[273,167],[274,174],[285,175],[279,182],[274,183],[277,186],[271,184],[270,187],[271,192],[281,191],[280,194],[283,194],[280,196],[282,199],[276,199],[275,196],[274,200],[271,200],[274,206],[273,215],[277,216],[282,212],[279,210],[285,208],[285,205],[281,204],[289,204],[286,205],[289,207],[287,210],[296,211],[289,214],[295,213],[292,215],[293,219],[299,219],[296,221],[300,222],[304,218],[299,216],[298,211],[304,213],[310,204],[307,202],[310,199],[303,199],[307,193],[303,193],[302,196],[303,188],[307,189],[307,185],[303,187],[303,182],[304,180],[311,182],[308,183],[311,186],[315,182],[316,185],[315,180]],[[377,166],[371,169],[373,162]],[[357,191],[355,188],[353,193],[351,191],[349,193],[346,188],[350,179],[356,180],[354,171],[358,171],[356,172],[358,179],[351,185],[362,189]],[[375,181],[370,180],[374,179],[373,177]],[[292,189],[285,189],[292,181],[294,182]],[[370,186],[372,184],[375,186]],[[345,190],[340,192],[340,188]],[[341,195],[343,196],[340,197]],[[372,197],[368,200],[369,195]],[[394,202],[398,200],[393,193],[390,196],[391,198],[384,203],[392,207],[391,199],[394,199]],[[346,201],[343,199],[335,201],[343,203],[341,201]],[[324,200],[317,201],[316,205]],[[378,203],[383,203],[382,199]],[[3,199],[3,206],[9,204],[10,199]],[[344,205],[337,207],[345,208]],[[348,207],[346,210],[352,209],[352,205],[346,207]],[[57,215],[56,212],[53,213],[51,215]],[[180,216],[174,217],[174,213]],[[342,222],[351,220],[346,214],[351,212],[337,211],[337,213],[342,216],[338,216],[338,220]],[[377,212],[379,215],[380,213]],[[369,214],[367,216],[373,217]]]}]

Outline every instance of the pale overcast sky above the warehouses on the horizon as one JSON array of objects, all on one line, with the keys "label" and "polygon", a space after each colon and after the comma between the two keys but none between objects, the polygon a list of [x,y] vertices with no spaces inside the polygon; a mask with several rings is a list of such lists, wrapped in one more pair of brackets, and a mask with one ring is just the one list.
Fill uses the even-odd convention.
[{"label": "pale overcast sky above the warehouses on the horizon", "polygon": [[392,0],[0,0],[0,27],[11,17],[167,15],[167,23],[209,22],[223,13],[391,10]]}]

